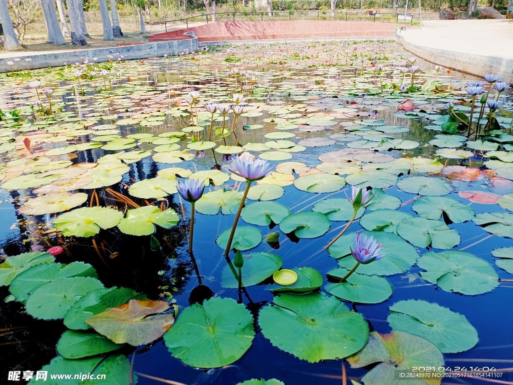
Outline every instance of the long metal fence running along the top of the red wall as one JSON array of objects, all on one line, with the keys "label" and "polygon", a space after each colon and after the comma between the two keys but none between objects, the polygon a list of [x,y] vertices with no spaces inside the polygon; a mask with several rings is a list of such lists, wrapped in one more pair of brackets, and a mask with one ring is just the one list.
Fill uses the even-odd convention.
[{"label": "long metal fence running along the top of the red wall", "polygon": [[[208,13],[197,16],[179,18],[165,21],[166,32],[168,27],[184,25],[189,28],[189,23],[213,22],[214,14]],[[277,21],[277,20],[340,20],[340,21],[369,21],[398,23],[404,22],[404,13],[380,13],[379,11],[366,12],[331,12],[331,11],[272,11],[269,12],[221,12],[215,13],[216,22],[229,21]],[[412,25],[418,17],[406,14],[407,23]]]}]

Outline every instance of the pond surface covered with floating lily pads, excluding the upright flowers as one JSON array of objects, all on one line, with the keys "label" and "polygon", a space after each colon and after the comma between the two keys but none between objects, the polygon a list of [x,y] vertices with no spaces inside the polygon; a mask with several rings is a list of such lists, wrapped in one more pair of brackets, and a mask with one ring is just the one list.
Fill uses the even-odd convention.
[{"label": "pond surface covered with floating lily pads, excluding the upright flowers", "polygon": [[[17,71],[16,62],[0,86],[0,245],[6,260],[0,268],[8,269],[0,272],[0,296],[6,299],[0,304],[0,378],[7,380],[9,371],[37,371],[52,361],[43,369],[49,374],[87,373],[94,368],[94,373],[107,373],[106,380],[82,382],[88,384],[167,380],[235,385],[252,378],[274,378],[286,385],[350,380],[400,384],[404,380],[394,377],[394,370],[412,366],[467,372],[491,368],[495,375],[446,378],[442,383],[447,384],[513,380],[507,377],[513,362],[509,90],[497,96],[491,88],[488,101],[497,99],[500,105],[489,121],[490,109],[483,108],[479,122],[485,134],[477,137],[472,132],[467,139],[466,125],[458,118],[468,122],[472,97],[464,87],[477,79],[446,69],[437,72],[420,61],[415,75],[403,74],[401,69],[415,65],[414,59],[391,42],[369,41],[210,48],[141,62],[120,58],[31,72]],[[45,94],[48,87],[53,89],[51,105]],[[190,90],[201,91],[192,105],[186,99]],[[233,112],[223,118],[219,112],[206,111],[206,103],[235,104],[232,94],[238,93],[244,94],[243,111],[234,125]],[[447,103],[454,106],[449,110]],[[239,220],[238,229],[246,231],[235,235],[245,255],[242,281],[247,275],[255,282],[238,290],[223,257],[224,246],[217,243],[223,243],[218,236],[232,227],[246,188],[244,179],[229,170],[243,151],[267,159],[276,169],[252,183]],[[175,189],[176,180],[186,178],[207,182],[196,203],[192,257],[187,252],[191,205]],[[151,181],[136,185],[144,180]],[[351,185],[372,187],[371,194],[376,195],[358,211],[346,235],[326,251],[353,214],[342,190],[350,195]],[[168,217],[160,222],[151,216],[135,222],[121,219],[125,214],[128,218],[127,210],[149,205],[157,212],[169,210]],[[60,218],[64,210],[72,214],[78,207],[95,206],[112,208],[103,222],[94,216]],[[175,217],[169,214],[173,210]],[[153,223],[157,226],[149,235],[145,228]],[[288,234],[285,228],[291,229]],[[383,243],[386,256],[361,265],[348,281],[351,285],[337,285],[354,265],[349,245],[360,230],[374,230],[371,234]],[[276,236],[278,240],[271,241]],[[225,245],[226,238],[227,234]],[[11,256],[52,246],[64,248],[55,262],[84,262],[95,273],[88,269],[59,276],[34,271],[40,265],[30,267],[28,260],[15,268],[8,264]],[[233,260],[233,252],[230,257]],[[54,263],[51,258],[41,264]],[[287,286],[273,283],[271,276],[280,266],[311,268],[308,278],[302,277],[301,292],[286,293]],[[31,269],[31,274],[22,273]],[[69,333],[66,326],[71,324],[67,310],[98,288],[82,281],[85,288],[74,290],[76,280],[94,280],[84,276],[97,277],[105,287],[132,289],[142,294],[135,297],[140,303],[159,300],[162,307],[143,312],[139,319],[103,320],[94,327],[114,340],[114,332],[132,341],[144,340],[138,347],[125,343],[105,348],[106,338],[91,329],[87,333],[101,339],[100,348],[75,335],[77,339],[67,340],[66,346],[57,345],[57,351],[81,358],[57,362],[57,341]],[[54,282],[60,279],[69,281],[58,287]],[[33,293],[25,293],[25,287]],[[277,288],[283,293],[273,294]],[[102,302],[102,311],[134,296],[121,302],[113,298],[110,306]],[[214,320],[213,329],[194,329],[190,325],[205,319],[198,313],[194,318],[187,309],[202,309],[194,303],[205,298],[220,300],[211,302],[209,315],[204,313]],[[394,305],[399,301],[408,302]],[[97,298],[89,305],[100,302]],[[333,313],[333,303],[346,306]],[[391,313],[392,305],[398,307]],[[153,321],[163,322],[155,321],[153,328],[148,326],[152,316],[143,317],[166,311],[167,319],[172,318],[173,306],[175,316],[179,310],[175,324],[162,338],[162,328],[169,328],[164,316],[153,316],[160,317]],[[186,318],[182,323],[181,317]],[[345,322],[338,317],[352,317],[343,332],[334,326]],[[242,320],[249,325],[244,332]],[[132,322],[141,329],[127,332],[126,324]],[[107,330],[102,329],[106,324]],[[187,331],[187,325],[192,329]],[[205,330],[210,334],[205,336]],[[372,343],[353,356],[367,341],[367,330]],[[382,340],[374,333],[393,330],[399,332]],[[212,336],[223,348],[212,348]],[[345,355],[340,352],[344,343],[353,349]],[[82,358],[88,356],[93,358]],[[347,356],[353,357],[342,360]]]}]

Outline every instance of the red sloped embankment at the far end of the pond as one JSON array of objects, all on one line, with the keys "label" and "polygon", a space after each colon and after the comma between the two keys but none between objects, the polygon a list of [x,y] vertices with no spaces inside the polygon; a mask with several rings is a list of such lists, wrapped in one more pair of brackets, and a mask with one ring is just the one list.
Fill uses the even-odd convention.
[{"label": "red sloped embankment at the far end of the pond", "polygon": [[275,22],[220,22],[148,36],[150,42],[171,40],[194,31],[200,42],[306,37],[359,37],[393,35],[393,23],[294,20]]}]

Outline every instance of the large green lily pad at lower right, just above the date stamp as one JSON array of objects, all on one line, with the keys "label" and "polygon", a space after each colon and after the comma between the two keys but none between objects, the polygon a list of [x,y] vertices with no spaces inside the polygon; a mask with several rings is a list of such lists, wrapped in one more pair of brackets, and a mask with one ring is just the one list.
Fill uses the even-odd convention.
[{"label": "large green lily pad at lower right, just above the date stamp", "polygon": [[413,334],[435,344],[442,353],[459,353],[478,343],[477,330],[464,315],[421,300],[399,301],[390,306],[387,322],[393,330]]}]

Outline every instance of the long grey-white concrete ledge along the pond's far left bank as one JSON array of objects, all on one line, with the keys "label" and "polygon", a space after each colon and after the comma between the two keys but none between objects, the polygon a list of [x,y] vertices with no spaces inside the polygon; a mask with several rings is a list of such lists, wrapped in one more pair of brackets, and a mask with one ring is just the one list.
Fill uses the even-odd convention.
[{"label": "long grey-white concrete ledge along the pond's far left bank", "polygon": [[[30,57],[30,68],[46,68],[46,67],[60,67],[64,63],[75,64],[81,63],[86,57],[90,62],[93,62],[93,58],[97,57],[96,62],[108,62],[109,57],[113,53],[119,53],[123,55],[123,60],[134,60],[134,59],[147,59],[148,57],[162,57],[167,55],[177,55],[183,50],[189,50],[189,52],[198,51],[198,38],[193,36],[186,40],[173,40],[168,42],[156,42],[156,43],[144,43],[134,44],[130,46],[111,47],[111,48],[100,48],[100,49],[77,49],[77,50],[65,50],[65,51],[53,51],[53,52],[42,52],[42,53],[23,53],[18,52],[15,55],[9,55],[9,57],[0,58],[0,72],[9,72],[11,67],[7,64],[9,61],[13,61],[14,57],[19,57],[22,60],[18,62],[20,69],[27,69],[27,62],[23,59]],[[114,60],[116,57],[114,58]]]}]

